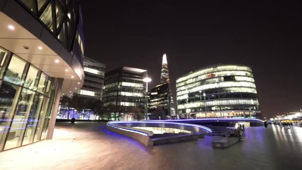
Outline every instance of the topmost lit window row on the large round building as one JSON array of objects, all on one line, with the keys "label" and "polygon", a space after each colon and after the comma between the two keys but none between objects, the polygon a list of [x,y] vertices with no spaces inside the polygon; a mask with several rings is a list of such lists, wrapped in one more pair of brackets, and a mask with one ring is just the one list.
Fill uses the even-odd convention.
[{"label": "topmost lit window row on the large round building", "polygon": [[182,82],[182,81],[185,81],[185,80],[188,80],[188,79],[200,76],[200,75],[209,74],[209,73],[213,73],[213,72],[227,71],[227,70],[238,70],[238,71],[241,70],[241,71],[252,72],[252,70],[246,66],[236,66],[236,65],[217,66],[217,67],[202,69],[200,71],[194,72],[185,77],[179,78],[176,80],[176,83],[179,83],[179,82]]}]

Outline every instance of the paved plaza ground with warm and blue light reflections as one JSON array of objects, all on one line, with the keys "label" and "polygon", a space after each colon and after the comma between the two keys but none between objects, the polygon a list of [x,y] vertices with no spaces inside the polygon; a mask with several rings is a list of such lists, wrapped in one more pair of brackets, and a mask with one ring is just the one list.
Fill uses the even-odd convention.
[{"label": "paved plaza ground with warm and blue light reflections", "polygon": [[147,148],[97,122],[56,124],[54,140],[0,153],[0,170],[298,170],[302,128],[246,128],[246,139],[212,149],[211,136]]}]

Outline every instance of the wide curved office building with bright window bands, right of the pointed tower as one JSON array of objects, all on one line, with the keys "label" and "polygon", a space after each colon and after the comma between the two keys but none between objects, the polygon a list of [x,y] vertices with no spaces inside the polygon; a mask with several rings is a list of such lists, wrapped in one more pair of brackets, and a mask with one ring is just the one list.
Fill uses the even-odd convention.
[{"label": "wide curved office building with bright window bands, right of the pointed tower", "polygon": [[216,65],[176,80],[180,118],[255,117],[259,110],[252,70],[244,65]]}]

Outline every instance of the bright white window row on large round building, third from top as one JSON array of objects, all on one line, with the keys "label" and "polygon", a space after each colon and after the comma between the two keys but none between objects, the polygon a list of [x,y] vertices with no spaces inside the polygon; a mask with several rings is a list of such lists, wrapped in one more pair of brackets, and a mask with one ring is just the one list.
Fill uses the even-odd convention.
[{"label": "bright white window row on large round building, third from top", "polygon": [[256,88],[256,85],[251,82],[219,82],[219,83],[200,85],[200,86],[192,85],[191,87],[188,87],[188,89],[178,91],[177,96],[187,94],[190,92],[194,92],[194,91],[202,91],[202,90],[206,90],[206,89],[222,88],[222,87],[253,87],[253,88]]}]

